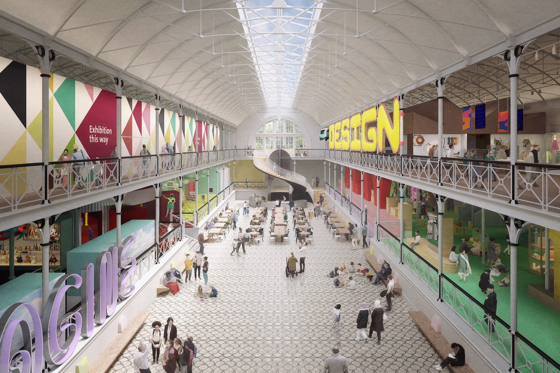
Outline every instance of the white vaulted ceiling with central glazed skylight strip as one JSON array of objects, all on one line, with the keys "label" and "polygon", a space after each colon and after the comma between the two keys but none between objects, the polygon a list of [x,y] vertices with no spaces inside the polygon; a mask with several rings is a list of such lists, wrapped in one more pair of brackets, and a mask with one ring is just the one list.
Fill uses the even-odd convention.
[{"label": "white vaulted ceiling with central glazed skylight strip", "polygon": [[[271,110],[298,110],[324,124],[468,66],[507,81],[498,60],[493,70],[479,62],[560,27],[557,0],[0,4],[0,16],[17,26],[8,31],[42,35],[32,41],[64,46],[70,58],[111,67],[234,125]],[[473,84],[452,78],[458,87]],[[546,81],[557,86],[555,78]]]}]

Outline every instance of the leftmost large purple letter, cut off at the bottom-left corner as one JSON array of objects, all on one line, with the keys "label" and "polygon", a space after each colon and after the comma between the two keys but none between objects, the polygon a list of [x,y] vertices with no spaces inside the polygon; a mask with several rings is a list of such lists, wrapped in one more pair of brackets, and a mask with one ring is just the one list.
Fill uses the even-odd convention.
[{"label": "leftmost large purple letter, cut off at the bottom-left corner", "polygon": [[[35,332],[35,361],[32,362],[32,337],[31,328],[25,319],[14,319],[10,321],[17,309],[25,307],[31,315],[31,322]],[[21,328],[24,347],[23,350],[12,350],[12,339],[18,325]],[[20,373],[40,372],[43,368],[43,359],[39,357],[39,353],[43,352],[43,330],[41,329],[41,318],[31,303],[14,303],[6,309],[6,312],[0,318],[0,330],[2,334],[2,352],[0,353],[0,373],[11,373],[10,362],[16,355],[21,355],[22,365]],[[40,351],[40,352],[39,352]]]}]

